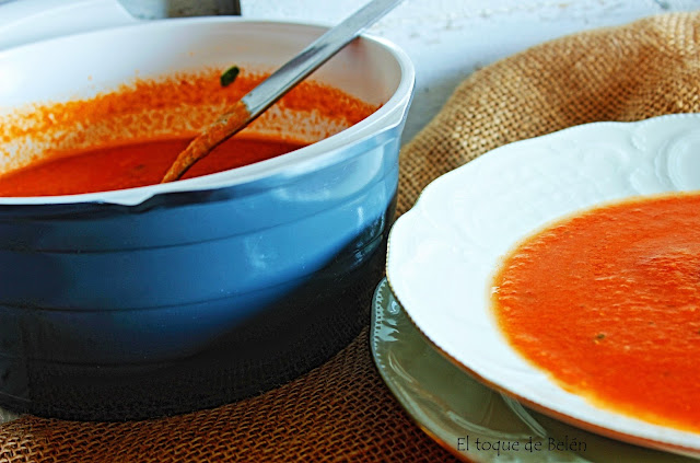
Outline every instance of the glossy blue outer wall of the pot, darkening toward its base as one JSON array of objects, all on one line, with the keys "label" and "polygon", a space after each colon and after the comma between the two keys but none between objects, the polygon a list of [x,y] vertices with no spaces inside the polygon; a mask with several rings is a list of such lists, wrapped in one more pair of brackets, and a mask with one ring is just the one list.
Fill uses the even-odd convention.
[{"label": "glossy blue outer wall of the pot, darkening toward its base", "polygon": [[269,189],[0,208],[0,404],[147,418],[319,364],[368,322],[401,125]]}]

